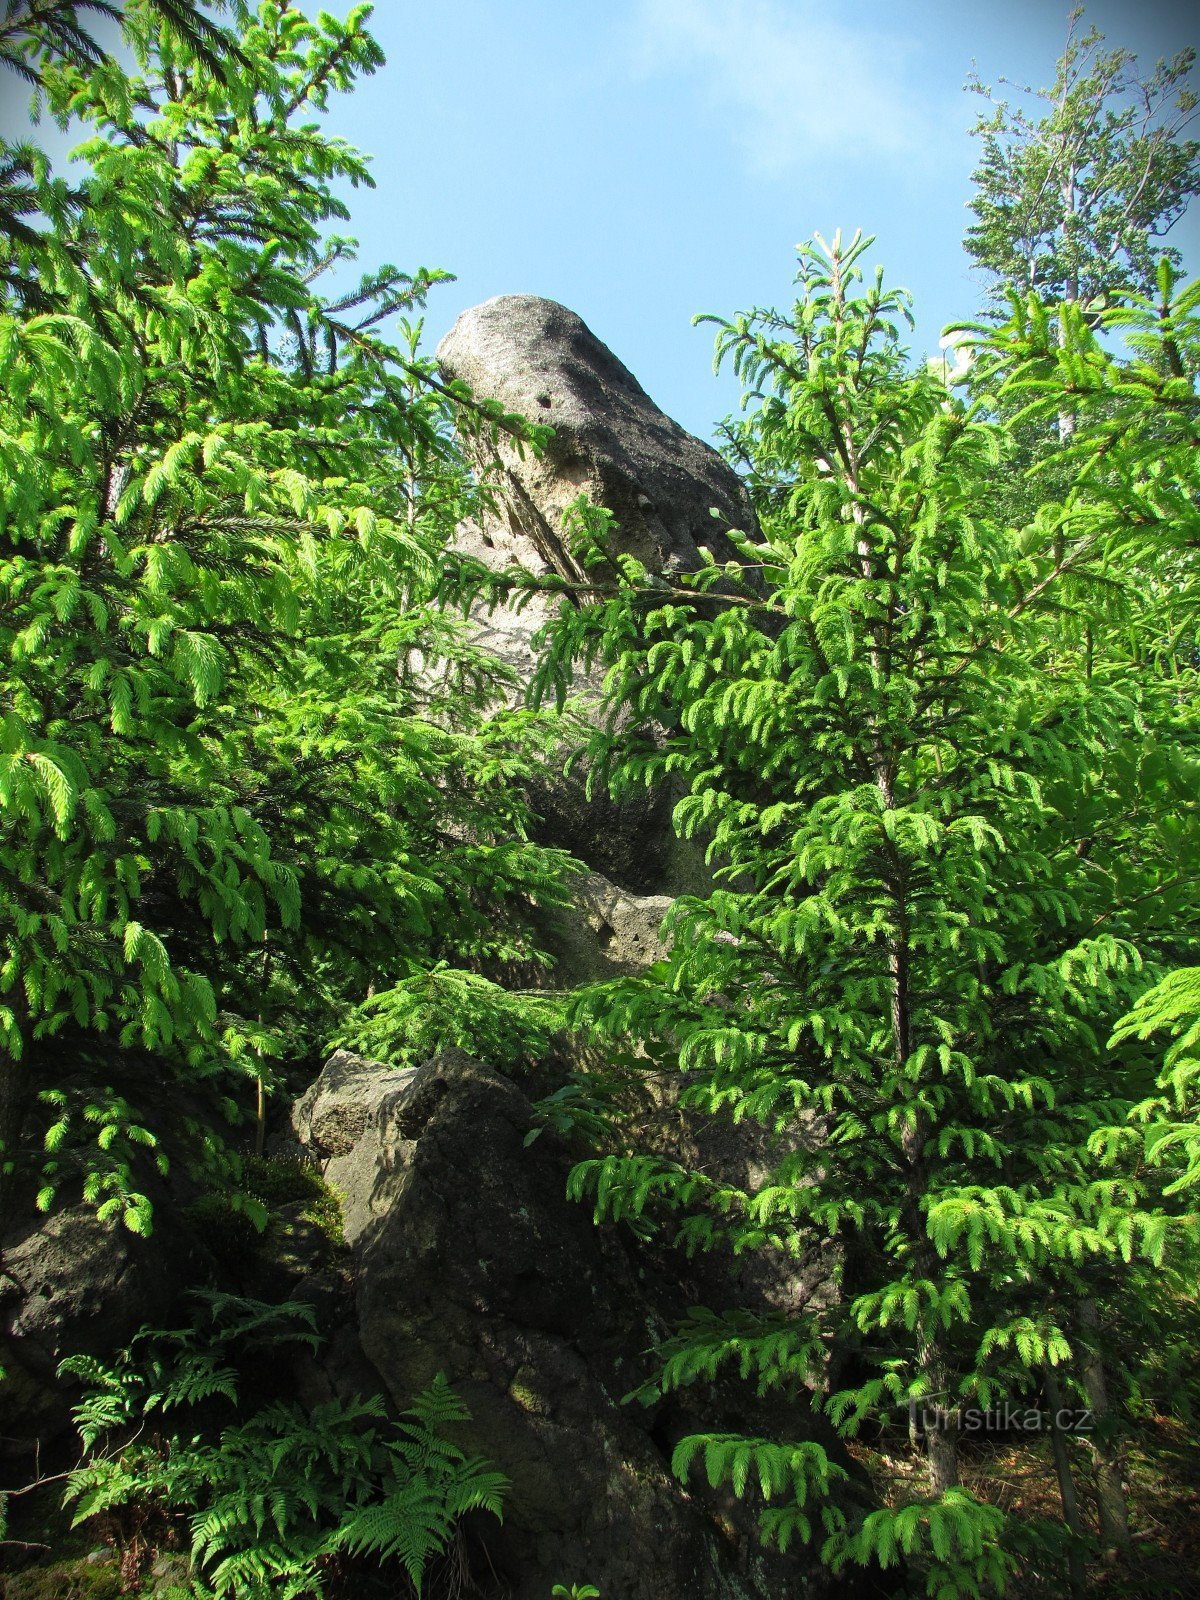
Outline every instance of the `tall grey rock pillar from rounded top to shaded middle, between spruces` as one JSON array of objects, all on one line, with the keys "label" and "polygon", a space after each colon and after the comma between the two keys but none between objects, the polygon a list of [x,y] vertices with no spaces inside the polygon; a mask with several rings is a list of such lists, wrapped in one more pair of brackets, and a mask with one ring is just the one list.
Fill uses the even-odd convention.
[{"label": "tall grey rock pillar from rounded top to shaded middle, between spruces", "polygon": [[[616,518],[613,554],[651,568],[694,568],[699,546],[731,560],[726,530],[757,530],[736,472],[661,411],[565,306],[533,294],[486,301],[459,317],[437,358],[446,378],[480,398],[554,429],[541,454],[518,451],[502,432],[466,440],[493,504],[459,528],[456,542],[493,571],[522,566],[581,579],[570,528],[581,494]],[[558,597],[534,595],[520,610],[477,603],[470,611],[472,642],[509,667],[517,693],[536,670],[533,637],[558,605]],[[582,675],[576,693],[595,704],[598,678]],[[530,794],[542,819],[539,840],[570,850],[632,894],[694,891],[704,870],[698,851],[672,837],[672,797],[658,790],[616,803],[600,789],[587,795],[584,770],[563,773],[568,750],[565,738]]]}]

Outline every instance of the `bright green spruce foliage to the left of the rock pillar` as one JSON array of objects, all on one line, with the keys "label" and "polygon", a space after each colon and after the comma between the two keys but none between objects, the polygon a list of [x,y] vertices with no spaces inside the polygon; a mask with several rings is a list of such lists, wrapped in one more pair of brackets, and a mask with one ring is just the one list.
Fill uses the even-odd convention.
[{"label": "bright green spruce foliage to the left of the rock pillar", "polygon": [[0,245],[2,1160],[45,1096],[40,1203],[82,1181],[138,1230],[134,1053],[269,1091],[366,994],[531,958],[560,896],[530,718],[483,717],[499,670],[435,603],[475,493],[406,320],[440,274],[318,294],[370,178],[314,115],[378,66],[368,8],[173,10],[125,8],[130,72],[29,22],[88,176],[35,163]]}]

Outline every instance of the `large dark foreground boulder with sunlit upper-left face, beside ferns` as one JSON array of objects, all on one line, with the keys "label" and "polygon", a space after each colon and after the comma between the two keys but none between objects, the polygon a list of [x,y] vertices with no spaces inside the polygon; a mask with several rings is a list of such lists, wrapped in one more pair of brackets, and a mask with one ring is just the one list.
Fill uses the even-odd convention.
[{"label": "large dark foreground boulder with sunlit upper-left face, beside ferns", "polygon": [[[336,1094],[344,1059],[331,1080]],[[454,1050],[405,1082],[370,1064],[357,1082],[370,1120],[325,1162],[352,1246],[357,1344],[397,1406],[437,1371],[470,1406],[472,1446],[512,1478],[488,1560],[514,1600],[546,1600],[555,1582],[614,1600],[830,1594],[813,1557],[765,1555],[736,1502],[672,1477],[677,1437],[736,1426],[728,1397],[722,1422],[702,1398],[621,1403],[688,1304],[686,1270],[638,1259],[566,1200],[570,1155],[550,1133],[526,1144],[534,1112],[517,1083]],[[318,1080],[312,1099],[323,1093]],[[296,1125],[310,1138],[307,1115]],[[797,1406],[750,1426],[811,1437],[819,1424]]]}]

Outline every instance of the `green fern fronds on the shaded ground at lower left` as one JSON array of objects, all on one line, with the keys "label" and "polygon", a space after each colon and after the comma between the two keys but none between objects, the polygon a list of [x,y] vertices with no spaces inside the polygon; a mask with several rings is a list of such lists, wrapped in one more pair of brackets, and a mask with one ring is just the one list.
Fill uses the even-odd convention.
[{"label": "green fern fronds on the shaded ground at lower left", "polygon": [[144,1330],[117,1365],[64,1362],[88,1386],[75,1406],[86,1461],[67,1486],[75,1523],[184,1512],[192,1592],[266,1600],[322,1595],[338,1555],[395,1563],[419,1594],[462,1515],[501,1517],[507,1478],[448,1437],[470,1414],[442,1374],[398,1422],[374,1397],[310,1411],[275,1400],[218,1427],[219,1403],[243,1413],[240,1366],[320,1339],[302,1302],[198,1299],[210,1309],[202,1328]]}]

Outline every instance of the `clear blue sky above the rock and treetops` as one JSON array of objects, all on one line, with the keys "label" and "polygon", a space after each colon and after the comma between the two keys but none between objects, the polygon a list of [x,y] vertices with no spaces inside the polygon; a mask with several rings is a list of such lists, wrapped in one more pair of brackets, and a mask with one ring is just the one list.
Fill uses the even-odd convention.
[{"label": "clear blue sky above the rock and treetops", "polygon": [[[374,157],[378,187],[352,197],[347,230],[365,266],[458,275],[430,299],[430,344],[493,294],[547,294],[707,434],[736,392],[714,379],[712,330],[691,315],[786,302],[794,246],[813,230],[877,235],[888,278],[917,298],[918,350],[978,309],[962,232],[982,102],[962,85],[973,61],[989,83],[1050,82],[1067,10],[381,0],[389,64],[330,115]],[[1094,0],[1085,24],[1149,67],[1200,43],[1190,11]],[[1200,205],[1176,234],[1200,270]]]}]

